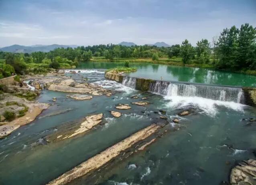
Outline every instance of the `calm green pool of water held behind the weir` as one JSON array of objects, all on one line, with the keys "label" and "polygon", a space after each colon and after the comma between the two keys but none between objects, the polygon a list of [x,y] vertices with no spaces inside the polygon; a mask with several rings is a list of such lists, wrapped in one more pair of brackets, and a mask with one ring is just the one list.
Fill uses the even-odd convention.
[{"label": "calm green pool of water held behind the weir", "polygon": [[[122,62],[84,62],[78,68],[109,69],[124,66]],[[131,63],[131,67],[138,70],[129,74],[131,77],[149,78],[154,80],[171,80],[181,82],[196,82],[205,84],[221,84],[229,86],[256,86],[256,76],[209,70],[203,68],[189,68],[150,63]]]}]

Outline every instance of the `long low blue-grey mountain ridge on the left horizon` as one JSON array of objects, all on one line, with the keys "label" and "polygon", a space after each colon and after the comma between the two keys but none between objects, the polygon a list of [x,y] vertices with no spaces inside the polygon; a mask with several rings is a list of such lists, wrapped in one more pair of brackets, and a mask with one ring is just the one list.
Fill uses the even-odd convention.
[{"label": "long low blue-grey mountain ridge on the left horizon", "polygon": [[55,48],[75,48],[76,45],[58,45],[58,44],[52,44],[52,45],[34,45],[34,46],[21,46],[21,45],[12,45],[7,46],[4,48],[0,48],[3,52],[13,52],[13,53],[32,53],[32,52],[49,52],[51,50],[54,50]]}]

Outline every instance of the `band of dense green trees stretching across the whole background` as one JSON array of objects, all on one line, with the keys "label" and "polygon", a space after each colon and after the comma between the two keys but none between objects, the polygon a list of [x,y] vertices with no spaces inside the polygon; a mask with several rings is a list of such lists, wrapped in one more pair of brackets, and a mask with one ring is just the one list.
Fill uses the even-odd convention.
[{"label": "band of dense green trees stretching across the whole background", "polygon": [[[256,70],[256,28],[243,24],[224,29],[219,38],[202,39],[192,46],[186,39],[171,47],[97,45],[77,48],[56,48],[50,52],[8,53],[0,51],[0,78],[28,72],[45,73],[54,68],[71,68],[93,58],[118,60],[147,58],[157,62],[161,58],[186,64],[209,64],[216,69]],[[170,60],[166,60],[168,63]]]}]

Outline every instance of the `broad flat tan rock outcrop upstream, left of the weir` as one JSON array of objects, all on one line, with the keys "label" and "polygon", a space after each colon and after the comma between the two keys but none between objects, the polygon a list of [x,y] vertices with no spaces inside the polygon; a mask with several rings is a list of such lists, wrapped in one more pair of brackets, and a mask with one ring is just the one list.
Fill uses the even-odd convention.
[{"label": "broad flat tan rock outcrop upstream, left of the weir", "polygon": [[33,79],[30,80],[30,85],[36,89],[47,89],[69,93],[88,93],[92,95],[106,95],[111,93],[111,91],[105,90],[98,85],[87,82],[78,83],[71,78],[61,76],[47,76],[44,78]]}]

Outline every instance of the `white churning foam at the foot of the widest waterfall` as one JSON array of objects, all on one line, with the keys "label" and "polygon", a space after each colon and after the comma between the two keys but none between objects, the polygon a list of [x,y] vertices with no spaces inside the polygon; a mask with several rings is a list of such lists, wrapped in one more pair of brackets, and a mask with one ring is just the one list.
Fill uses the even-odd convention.
[{"label": "white churning foam at the foot of the widest waterfall", "polygon": [[246,107],[246,105],[233,101],[219,101],[197,96],[165,96],[164,98],[170,100],[170,102],[168,102],[166,105],[167,107],[177,109],[192,105],[198,107],[199,109],[202,109],[204,113],[212,117],[218,113],[217,106],[225,106],[235,111],[243,111],[244,107]]}]

